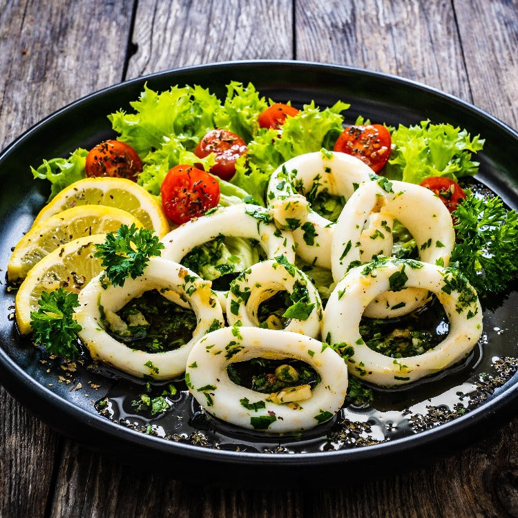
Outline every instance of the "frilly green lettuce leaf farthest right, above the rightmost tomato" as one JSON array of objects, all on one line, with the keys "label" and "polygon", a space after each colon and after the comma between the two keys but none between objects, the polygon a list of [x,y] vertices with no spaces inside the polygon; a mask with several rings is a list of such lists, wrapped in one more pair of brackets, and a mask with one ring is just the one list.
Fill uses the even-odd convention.
[{"label": "frilly green lettuce leaf farthest right, above the rightmost tomato", "polygon": [[391,158],[383,175],[390,180],[420,184],[429,176],[446,176],[457,180],[472,176],[479,170],[479,162],[471,160],[484,141],[451,124],[430,124],[423,121],[416,126],[400,125],[392,131]]}]

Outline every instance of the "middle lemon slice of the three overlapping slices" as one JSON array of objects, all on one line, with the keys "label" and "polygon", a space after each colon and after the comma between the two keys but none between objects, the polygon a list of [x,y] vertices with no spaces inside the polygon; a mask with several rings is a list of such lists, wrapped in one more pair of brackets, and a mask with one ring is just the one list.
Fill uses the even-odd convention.
[{"label": "middle lemon slice of the three overlapping slices", "polygon": [[32,225],[16,245],[7,267],[9,280],[17,280],[58,247],[84,236],[114,232],[122,224],[142,227],[134,215],[103,205],[80,205]]}]

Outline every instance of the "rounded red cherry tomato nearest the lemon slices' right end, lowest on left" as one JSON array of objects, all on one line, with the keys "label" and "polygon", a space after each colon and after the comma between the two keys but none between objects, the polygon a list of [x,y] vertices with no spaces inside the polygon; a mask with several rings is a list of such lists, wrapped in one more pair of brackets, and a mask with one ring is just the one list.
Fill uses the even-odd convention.
[{"label": "rounded red cherry tomato nearest the lemon slices' right end, lowest on left", "polygon": [[167,173],[160,193],[167,217],[182,224],[199,218],[218,204],[220,184],[209,173],[180,164]]}]

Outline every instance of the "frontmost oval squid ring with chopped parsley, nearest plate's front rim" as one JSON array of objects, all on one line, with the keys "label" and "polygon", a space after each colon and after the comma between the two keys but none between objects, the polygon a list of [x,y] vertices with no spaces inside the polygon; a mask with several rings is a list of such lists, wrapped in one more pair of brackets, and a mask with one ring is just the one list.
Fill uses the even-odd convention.
[{"label": "frontmost oval squid ring with chopped parsley, nearest plate's front rim", "polygon": [[[290,389],[263,394],[236,385],[227,367],[251,358],[298,358],[318,372],[320,382],[307,399],[290,401]],[[189,354],[185,380],[207,412],[232,423],[265,432],[309,430],[332,419],[347,392],[347,366],[330,347],[314,338],[259,327],[225,327],[204,336]],[[303,385],[305,392],[309,385]],[[297,394],[300,394],[297,387]],[[282,401],[289,402],[282,402]]]}]

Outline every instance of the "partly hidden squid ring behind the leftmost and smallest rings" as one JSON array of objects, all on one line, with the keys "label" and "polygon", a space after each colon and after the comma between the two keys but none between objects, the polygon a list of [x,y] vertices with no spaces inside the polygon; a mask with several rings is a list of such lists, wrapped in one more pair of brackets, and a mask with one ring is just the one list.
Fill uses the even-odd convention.
[{"label": "partly hidden squid ring behind the leftmost and smallest rings", "polygon": [[[172,230],[160,240],[165,247],[162,258],[181,262],[194,247],[220,235],[258,240],[268,259],[286,256],[289,262],[295,260],[295,244],[291,233],[275,227],[268,209],[246,203],[220,207],[209,215]],[[223,309],[227,307],[227,293],[215,291]]]}]

